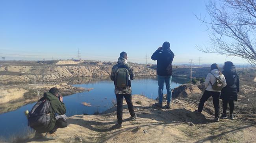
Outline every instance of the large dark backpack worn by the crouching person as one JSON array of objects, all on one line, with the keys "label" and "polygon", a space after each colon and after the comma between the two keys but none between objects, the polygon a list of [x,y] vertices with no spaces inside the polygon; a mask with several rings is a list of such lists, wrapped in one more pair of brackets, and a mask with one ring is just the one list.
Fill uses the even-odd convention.
[{"label": "large dark backpack worn by the crouching person", "polygon": [[48,100],[38,101],[28,115],[28,125],[37,132],[47,132],[51,121],[50,102]]}]

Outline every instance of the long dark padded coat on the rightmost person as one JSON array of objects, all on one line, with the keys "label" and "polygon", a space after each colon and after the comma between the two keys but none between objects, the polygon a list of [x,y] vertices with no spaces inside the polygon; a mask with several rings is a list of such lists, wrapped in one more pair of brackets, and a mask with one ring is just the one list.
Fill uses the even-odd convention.
[{"label": "long dark padded coat on the rightmost person", "polygon": [[227,85],[221,90],[221,99],[237,101],[237,93],[239,92],[239,76],[236,73],[235,66],[232,66],[230,69],[224,69],[222,73],[225,76]]}]

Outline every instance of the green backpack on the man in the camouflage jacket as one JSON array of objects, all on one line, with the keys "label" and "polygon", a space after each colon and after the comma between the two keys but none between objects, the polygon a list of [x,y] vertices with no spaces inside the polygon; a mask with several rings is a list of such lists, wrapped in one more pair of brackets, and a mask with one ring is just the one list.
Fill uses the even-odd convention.
[{"label": "green backpack on the man in the camouflage jacket", "polygon": [[115,75],[116,87],[127,87],[129,80],[129,71],[126,68],[118,68]]}]

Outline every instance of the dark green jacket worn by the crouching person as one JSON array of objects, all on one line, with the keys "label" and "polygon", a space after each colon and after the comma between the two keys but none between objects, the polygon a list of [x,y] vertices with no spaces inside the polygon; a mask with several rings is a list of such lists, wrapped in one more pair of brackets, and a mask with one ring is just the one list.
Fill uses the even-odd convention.
[{"label": "dark green jacket worn by the crouching person", "polygon": [[51,122],[48,126],[48,130],[52,130],[55,126],[56,123],[56,118],[55,118],[55,114],[65,114],[66,113],[66,107],[65,104],[62,103],[61,101],[59,101],[59,98],[54,96],[52,93],[50,92],[45,92],[44,97],[41,98],[40,100],[45,100],[47,99],[50,104],[51,104],[51,108],[50,108],[50,118],[51,118]]}]

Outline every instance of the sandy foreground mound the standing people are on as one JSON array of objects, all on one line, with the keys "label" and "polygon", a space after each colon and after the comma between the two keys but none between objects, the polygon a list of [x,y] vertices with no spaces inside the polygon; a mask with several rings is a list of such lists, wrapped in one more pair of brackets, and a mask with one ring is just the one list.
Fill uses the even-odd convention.
[{"label": "sandy foreground mound the standing people are on", "polygon": [[[141,101],[139,103],[138,101]],[[136,103],[137,102],[137,103]],[[253,143],[255,124],[241,119],[212,122],[212,109],[206,106],[203,115],[193,111],[197,102],[188,98],[173,99],[171,109],[158,109],[150,100],[134,95],[138,118],[130,121],[123,110],[124,127],[116,129],[116,107],[100,115],[76,115],[67,119],[67,128],[58,129],[59,139],[33,140],[31,143]],[[139,104],[138,104],[139,103]],[[207,111],[207,112],[206,112]]]}]

